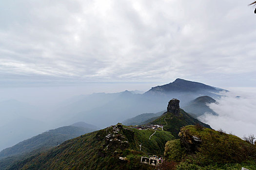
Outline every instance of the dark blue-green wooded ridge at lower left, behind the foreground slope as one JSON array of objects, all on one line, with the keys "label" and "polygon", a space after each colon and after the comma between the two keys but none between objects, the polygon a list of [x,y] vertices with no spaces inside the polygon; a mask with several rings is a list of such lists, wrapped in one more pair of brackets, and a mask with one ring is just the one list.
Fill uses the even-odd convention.
[{"label": "dark blue-green wooded ridge at lower left, behind the foreground slope", "polygon": [[94,130],[84,127],[63,126],[24,140],[0,152],[0,170],[7,169],[17,161],[38,155],[41,152],[61,144],[65,140],[92,131]]}]

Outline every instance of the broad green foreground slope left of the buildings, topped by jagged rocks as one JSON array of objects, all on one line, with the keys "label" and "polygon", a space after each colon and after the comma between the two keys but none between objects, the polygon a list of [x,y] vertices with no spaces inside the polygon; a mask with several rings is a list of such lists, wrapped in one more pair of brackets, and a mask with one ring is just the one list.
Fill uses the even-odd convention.
[{"label": "broad green foreground slope left of the buildings, topped by jagged rocks", "polygon": [[165,131],[156,131],[149,139],[153,133],[154,130],[138,130],[121,124],[110,126],[65,141],[8,170],[153,170],[140,164],[141,155],[163,155],[165,143],[174,139]]}]

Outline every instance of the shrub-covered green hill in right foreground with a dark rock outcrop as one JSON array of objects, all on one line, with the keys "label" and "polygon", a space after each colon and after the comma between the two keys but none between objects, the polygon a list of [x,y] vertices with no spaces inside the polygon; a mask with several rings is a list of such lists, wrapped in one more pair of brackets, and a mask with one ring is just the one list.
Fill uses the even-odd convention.
[{"label": "shrub-covered green hill in right foreground with a dark rock outcrop", "polygon": [[165,158],[177,170],[256,170],[256,145],[234,135],[200,126],[180,129],[179,138],[165,146]]}]

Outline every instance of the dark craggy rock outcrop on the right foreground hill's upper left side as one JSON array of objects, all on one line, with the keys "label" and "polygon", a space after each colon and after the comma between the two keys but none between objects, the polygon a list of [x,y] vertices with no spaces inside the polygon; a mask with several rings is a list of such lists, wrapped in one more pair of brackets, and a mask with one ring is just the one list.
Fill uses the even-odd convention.
[{"label": "dark craggy rock outcrop on the right foreground hill's upper left side", "polygon": [[198,147],[202,143],[200,137],[191,135],[188,130],[185,128],[180,128],[180,132],[178,134],[180,138],[180,144],[189,152],[195,153],[198,151]]}]

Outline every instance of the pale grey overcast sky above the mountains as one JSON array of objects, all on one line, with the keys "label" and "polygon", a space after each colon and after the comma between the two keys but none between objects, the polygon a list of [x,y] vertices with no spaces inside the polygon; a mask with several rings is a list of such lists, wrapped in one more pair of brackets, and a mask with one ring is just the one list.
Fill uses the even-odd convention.
[{"label": "pale grey overcast sky above the mountains", "polygon": [[2,0],[0,83],[255,87],[251,1]]}]

